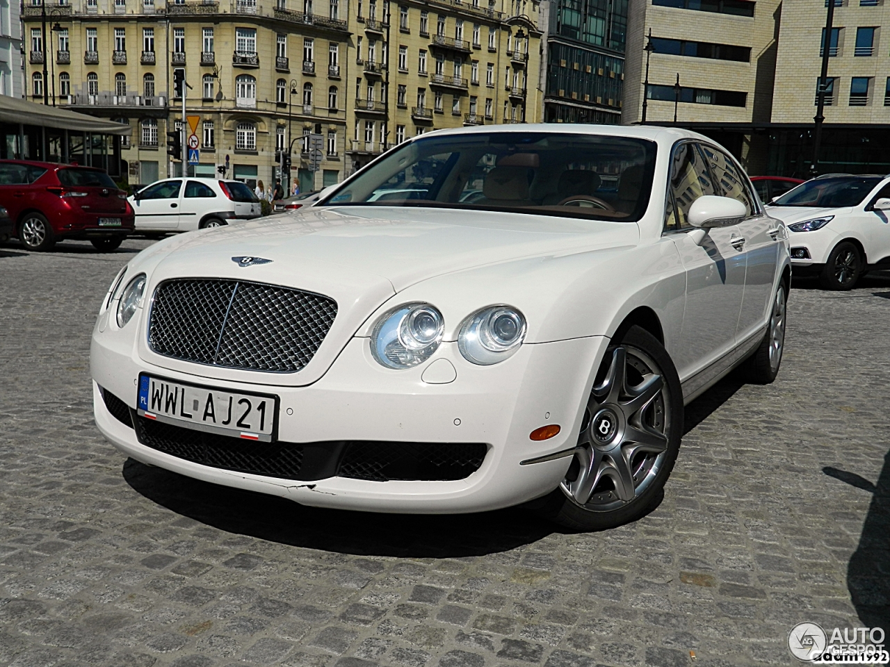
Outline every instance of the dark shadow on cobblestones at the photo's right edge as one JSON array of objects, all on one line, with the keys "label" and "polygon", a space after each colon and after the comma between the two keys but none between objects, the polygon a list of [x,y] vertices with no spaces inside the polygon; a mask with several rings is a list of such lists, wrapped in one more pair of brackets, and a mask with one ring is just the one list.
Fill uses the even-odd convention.
[{"label": "dark shadow on cobblestones at the photo's right edge", "polygon": [[862,623],[890,634],[890,451],[877,484],[845,470],[822,472],[872,494],[859,545],[846,568],[846,587]]}]

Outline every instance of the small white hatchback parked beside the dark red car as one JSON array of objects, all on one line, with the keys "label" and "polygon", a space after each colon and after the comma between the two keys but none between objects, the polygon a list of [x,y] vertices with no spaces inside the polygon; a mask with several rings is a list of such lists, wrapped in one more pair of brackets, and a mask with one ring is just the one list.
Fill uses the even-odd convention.
[{"label": "small white hatchback parked beside the dark red car", "polygon": [[177,178],[156,181],[129,197],[136,233],[166,233],[219,227],[263,214],[260,200],[241,181]]}]

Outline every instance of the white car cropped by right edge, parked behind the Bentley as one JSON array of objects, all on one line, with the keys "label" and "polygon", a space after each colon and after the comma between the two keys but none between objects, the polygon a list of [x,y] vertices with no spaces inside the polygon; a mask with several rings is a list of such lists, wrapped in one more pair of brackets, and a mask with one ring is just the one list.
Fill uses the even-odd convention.
[{"label": "white car cropped by right edge, parked behind the Bentley", "polygon": [[795,276],[848,290],[868,269],[890,269],[890,177],[830,174],[773,199],[791,232]]}]

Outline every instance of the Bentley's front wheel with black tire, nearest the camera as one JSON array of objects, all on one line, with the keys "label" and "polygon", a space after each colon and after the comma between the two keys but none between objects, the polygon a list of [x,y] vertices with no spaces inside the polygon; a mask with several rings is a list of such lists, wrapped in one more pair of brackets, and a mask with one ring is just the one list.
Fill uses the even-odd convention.
[{"label": "Bentley's front wheel with black tire, nearest the camera", "polygon": [[[613,372],[613,368],[617,369],[619,366],[625,367],[623,373],[626,374],[628,385],[636,382],[633,389],[641,390],[645,395],[655,391],[651,394],[651,398],[645,399],[642,408],[629,416],[621,408],[627,408],[632,401],[628,400],[626,404],[622,404],[619,397],[619,392],[623,391],[621,388],[625,383],[614,381],[618,376]],[[643,374],[647,368],[651,375]],[[657,380],[659,377],[658,385],[652,378]],[[646,382],[653,382],[651,387],[658,388],[648,391],[644,389]],[[610,402],[613,396],[611,386],[619,386],[619,390],[615,390],[614,393],[614,396],[618,397],[614,402]],[[602,399],[598,398],[600,396]],[[618,416],[619,414],[621,416]],[[615,417],[615,420],[610,427],[607,420],[611,420],[612,417]],[[538,505],[536,511],[561,526],[578,531],[613,528],[645,516],[660,502],[667,478],[674,469],[683,434],[683,417],[683,390],[680,388],[680,378],[667,350],[651,333],[642,327],[631,326],[620,342],[610,345],[606,350],[603,364],[596,376],[578,438],[578,446],[585,448],[575,454],[566,472],[566,479],[559,488],[543,502],[536,503]],[[608,465],[603,467],[603,462],[608,464],[615,460],[614,457],[608,454],[607,449],[599,449],[599,453],[590,454],[595,448],[588,445],[593,443],[595,438],[606,438],[596,441],[606,443],[609,447],[617,445],[615,451],[620,450],[622,454],[630,451],[624,448],[625,446],[640,447],[645,438],[633,438],[633,432],[630,430],[630,426],[637,423],[637,418],[648,427],[649,433],[655,433],[661,438],[663,442],[659,446],[663,446],[663,449],[657,454],[635,451],[631,455],[627,472],[632,478],[627,481],[633,487],[625,486],[625,495],[630,498],[632,494],[633,497],[621,500],[619,483],[613,481],[611,473],[602,472],[612,470]],[[603,428],[606,430],[603,431]],[[595,430],[602,435],[595,436]],[[585,452],[587,454],[584,454]],[[595,463],[596,457],[600,457],[599,464]],[[573,485],[579,485],[579,488],[585,486],[579,481],[584,477],[582,470],[586,465],[585,461],[590,462],[587,470],[592,470],[595,465],[598,466],[597,471],[588,472],[586,478],[590,479],[593,476],[599,481],[591,487],[587,502],[582,505],[575,494],[580,493],[582,497],[585,494],[582,491],[574,491]],[[613,490],[610,490],[610,486]]]}]

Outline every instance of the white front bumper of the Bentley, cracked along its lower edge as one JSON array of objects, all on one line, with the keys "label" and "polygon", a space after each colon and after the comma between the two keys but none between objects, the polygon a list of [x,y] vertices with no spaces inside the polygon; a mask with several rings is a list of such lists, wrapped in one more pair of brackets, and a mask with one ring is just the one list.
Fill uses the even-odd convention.
[{"label": "white front bumper of the Bentley, cracked along its lower edge", "polygon": [[[456,343],[443,343],[425,364],[392,371],[371,358],[367,339],[353,338],[318,382],[261,389],[201,377],[199,366],[195,374],[183,374],[147,364],[132,349],[105,344],[97,329],[91,354],[95,421],[106,438],[138,461],[306,505],[401,513],[495,510],[540,497],[559,485],[570,457],[521,462],[562,451],[577,441],[586,402],[582,399],[607,344],[601,336],[526,344],[501,364],[474,366],[460,356]],[[447,384],[424,382],[425,368],[442,358],[455,367],[457,379]],[[210,467],[143,445],[134,429],[109,413],[99,386],[133,408],[141,372],[232,391],[278,394],[279,441],[287,443],[485,443],[488,452],[478,470],[450,481],[380,482],[333,476],[307,482]],[[530,440],[532,430],[553,423],[562,427],[556,437]]]}]

